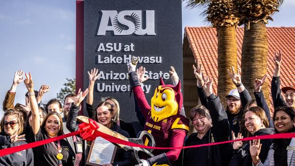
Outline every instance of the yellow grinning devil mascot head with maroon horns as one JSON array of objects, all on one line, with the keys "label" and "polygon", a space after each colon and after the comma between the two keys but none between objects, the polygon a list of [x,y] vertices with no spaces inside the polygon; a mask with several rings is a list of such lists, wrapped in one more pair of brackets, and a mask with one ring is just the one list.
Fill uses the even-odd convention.
[{"label": "yellow grinning devil mascot head with maroon horns", "polygon": [[180,81],[176,87],[171,85],[165,85],[163,80],[160,80],[160,86],[155,90],[153,97],[151,98],[151,117],[154,122],[159,122],[170,116],[177,115],[179,113],[180,98],[182,101],[182,95],[180,92]]}]

